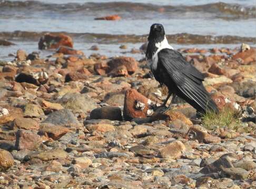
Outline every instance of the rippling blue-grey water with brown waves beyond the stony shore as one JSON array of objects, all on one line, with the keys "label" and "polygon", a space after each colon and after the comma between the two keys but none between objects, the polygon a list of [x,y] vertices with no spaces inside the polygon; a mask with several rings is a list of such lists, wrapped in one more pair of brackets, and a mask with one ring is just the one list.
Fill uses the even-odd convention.
[{"label": "rippling blue-grey water with brown waves beyond the stony shore", "polygon": [[[94,20],[112,14],[118,14],[122,19]],[[122,55],[125,52],[119,46],[127,44],[129,49],[126,51],[139,48],[146,41],[153,23],[164,25],[169,41],[176,47],[234,47],[243,42],[254,45],[255,17],[255,0],[163,0],[153,4],[148,0],[0,0],[0,39],[16,44],[0,46],[0,59],[9,59],[7,55],[18,48],[26,49],[28,53],[36,50],[44,31],[65,31],[74,39],[74,47],[86,55],[95,53],[88,50],[92,45],[100,47],[97,53]]]}]

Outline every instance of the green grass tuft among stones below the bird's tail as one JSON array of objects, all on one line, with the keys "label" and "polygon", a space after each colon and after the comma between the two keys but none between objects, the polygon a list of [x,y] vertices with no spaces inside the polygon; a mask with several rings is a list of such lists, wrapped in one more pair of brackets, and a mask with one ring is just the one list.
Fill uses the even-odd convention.
[{"label": "green grass tuft among stones below the bird's tail", "polygon": [[229,128],[239,130],[242,122],[239,119],[238,111],[225,108],[219,114],[208,111],[202,116],[202,124],[206,129]]}]

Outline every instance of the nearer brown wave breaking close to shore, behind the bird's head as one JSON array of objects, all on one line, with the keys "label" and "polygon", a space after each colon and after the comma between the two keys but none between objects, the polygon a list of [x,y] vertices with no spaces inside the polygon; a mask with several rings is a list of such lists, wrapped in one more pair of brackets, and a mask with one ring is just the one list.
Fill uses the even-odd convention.
[{"label": "nearer brown wave breaking close to shore, behind the bird's head", "polygon": [[[0,38],[7,40],[33,40],[37,41],[41,36],[49,32],[32,32],[32,31],[14,31],[0,32]],[[94,33],[65,33],[51,32],[52,34],[66,34],[71,36],[74,41],[82,43],[99,43],[99,44],[120,44],[120,43],[144,43],[147,35],[110,35],[110,34],[94,34]],[[255,44],[254,37],[240,36],[212,36],[212,35],[195,35],[188,33],[180,33],[166,36],[170,43],[173,44]]]}]

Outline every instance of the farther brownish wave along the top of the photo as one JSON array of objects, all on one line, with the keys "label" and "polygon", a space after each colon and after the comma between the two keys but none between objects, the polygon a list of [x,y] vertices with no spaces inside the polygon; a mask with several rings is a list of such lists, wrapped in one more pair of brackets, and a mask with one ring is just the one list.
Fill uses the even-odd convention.
[{"label": "farther brownish wave along the top of the photo", "polygon": [[227,4],[223,2],[210,3],[204,5],[193,6],[170,6],[170,5],[154,5],[145,3],[131,3],[131,2],[108,2],[108,3],[67,3],[67,4],[54,4],[43,3],[38,1],[5,1],[0,0],[0,10],[22,10],[26,9],[30,12],[50,10],[61,13],[95,13],[106,10],[114,13],[134,13],[134,12],[158,12],[161,14],[184,14],[188,12],[200,12],[214,14],[216,17],[229,17],[235,18],[254,18],[256,17],[256,7],[243,6],[239,4]]}]

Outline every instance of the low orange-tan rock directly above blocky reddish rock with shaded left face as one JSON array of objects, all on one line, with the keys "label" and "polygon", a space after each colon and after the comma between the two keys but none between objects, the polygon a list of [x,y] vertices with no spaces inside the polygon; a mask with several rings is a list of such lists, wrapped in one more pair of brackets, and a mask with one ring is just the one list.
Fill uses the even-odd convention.
[{"label": "low orange-tan rock directly above blocky reddish rock with shaded left face", "polygon": [[12,123],[12,129],[38,130],[39,123],[31,118],[15,118]]}]

